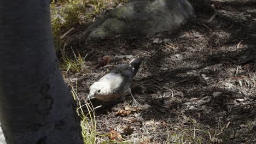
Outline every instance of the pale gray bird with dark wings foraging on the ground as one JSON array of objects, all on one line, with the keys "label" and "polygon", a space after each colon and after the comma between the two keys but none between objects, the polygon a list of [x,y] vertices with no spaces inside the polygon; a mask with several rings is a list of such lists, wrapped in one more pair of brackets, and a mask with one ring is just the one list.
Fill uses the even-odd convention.
[{"label": "pale gray bird with dark wings foraging on the ground", "polygon": [[129,64],[121,64],[110,70],[109,73],[90,86],[86,101],[94,98],[101,101],[114,101],[129,92],[132,96],[132,105],[138,106],[139,103],[133,97],[130,85],[143,59],[143,57],[137,57],[132,59]]}]

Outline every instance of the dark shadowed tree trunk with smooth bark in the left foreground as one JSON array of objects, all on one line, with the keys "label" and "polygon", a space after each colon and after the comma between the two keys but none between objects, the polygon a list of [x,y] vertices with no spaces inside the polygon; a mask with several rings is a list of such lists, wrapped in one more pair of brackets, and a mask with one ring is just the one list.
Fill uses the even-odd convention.
[{"label": "dark shadowed tree trunk with smooth bark in the left foreground", "polygon": [[0,121],[7,143],[83,143],[57,66],[49,1],[0,0]]}]

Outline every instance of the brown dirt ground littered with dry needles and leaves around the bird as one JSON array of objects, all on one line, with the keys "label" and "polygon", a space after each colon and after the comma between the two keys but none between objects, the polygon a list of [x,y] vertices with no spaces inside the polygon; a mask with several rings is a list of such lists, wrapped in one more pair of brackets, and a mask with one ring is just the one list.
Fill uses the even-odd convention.
[{"label": "brown dirt ground littered with dry needles and leaves around the bird", "polygon": [[[68,46],[88,54],[86,73],[65,74],[72,86],[78,78],[81,100],[113,65],[128,63],[130,55],[146,58],[131,85],[141,106],[133,108],[130,95],[92,100],[102,105],[99,134],[115,131],[131,143],[256,143],[256,2],[211,1],[211,7],[197,7],[174,34],[117,35],[91,44],[79,39],[81,29],[68,36]],[[156,38],[165,40],[153,43]]]}]

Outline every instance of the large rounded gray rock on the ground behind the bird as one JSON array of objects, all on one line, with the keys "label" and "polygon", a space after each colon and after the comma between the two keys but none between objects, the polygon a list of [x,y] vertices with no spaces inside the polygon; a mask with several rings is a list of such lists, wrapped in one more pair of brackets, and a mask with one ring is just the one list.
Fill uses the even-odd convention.
[{"label": "large rounded gray rock on the ground behind the bird", "polygon": [[84,37],[99,40],[119,34],[172,32],[191,16],[194,9],[187,0],[132,1],[98,18]]}]

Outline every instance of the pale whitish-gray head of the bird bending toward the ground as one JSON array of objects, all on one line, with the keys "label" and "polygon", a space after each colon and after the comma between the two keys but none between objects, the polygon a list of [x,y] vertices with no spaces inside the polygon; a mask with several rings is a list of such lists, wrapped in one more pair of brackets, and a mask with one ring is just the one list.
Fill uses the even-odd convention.
[{"label": "pale whitish-gray head of the bird bending toward the ground", "polygon": [[110,89],[107,82],[95,82],[90,86],[90,92],[86,100],[97,98],[97,95],[109,94],[111,91],[112,89]]}]

